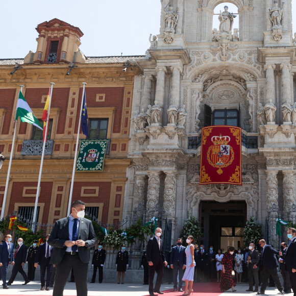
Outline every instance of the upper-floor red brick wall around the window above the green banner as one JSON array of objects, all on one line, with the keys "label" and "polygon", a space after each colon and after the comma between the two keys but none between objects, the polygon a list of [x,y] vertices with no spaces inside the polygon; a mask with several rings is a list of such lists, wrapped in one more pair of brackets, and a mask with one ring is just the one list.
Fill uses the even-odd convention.
[{"label": "upper-floor red brick wall around the window above the green banner", "polygon": [[[83,88],[79,89],[79,103],[81,105]],[[122,106],[124,104],[124,87],[86,87],[86,106],[89,107],[116,107],[114,114],[113,133],[120,133],[121,129],[121,117],[122,117]],[[105,93],[105,102],[95,102],[97,93]],[[79,107],[80,110],[80,107]],[[79,111],[80,112],[80,111]],[[76,115],[75,121],[75,133],[78,129],[79,112]],[[109,125],[111,122],[109,122]]]}]

